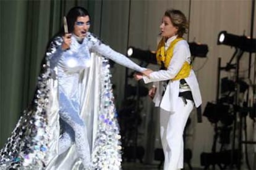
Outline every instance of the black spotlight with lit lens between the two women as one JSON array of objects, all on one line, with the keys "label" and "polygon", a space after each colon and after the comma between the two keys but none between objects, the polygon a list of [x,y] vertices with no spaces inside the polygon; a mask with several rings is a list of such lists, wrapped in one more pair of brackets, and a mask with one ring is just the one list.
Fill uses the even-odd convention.
[{"label": "black spotlight with lit lens between the two women", "polygon": [[135,59],[142,60],[143,62],[156,64],[155,52],[149,50],[142,50],[135,47],[128,47],[127,56]]}]

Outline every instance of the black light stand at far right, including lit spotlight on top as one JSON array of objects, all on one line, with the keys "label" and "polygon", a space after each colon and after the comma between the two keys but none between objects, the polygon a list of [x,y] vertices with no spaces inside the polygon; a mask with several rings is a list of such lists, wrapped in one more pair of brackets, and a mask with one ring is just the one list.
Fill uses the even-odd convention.
[{"label": "black light stand at far right, including lit spotlight on top", "polygon": [[[247,162],[247,167],[250,169],[249,161],[247,158],[247,141],[242,141],[242,125],[243,121],[244,123],[244,128],[246,128],[246,118],[242,116],[244,108],[241,109],[239,106],[239,93],[240,93],[240,88],[239,88],[239,63],[242,57],[242,54],[244,52],[256,52],[256,39],[250,39],[246,36],[237,36],[234,34],[229,34],[226,31],[221,31],[218,35],[218,42],[217,44],[225,44],[228,46],[235,47],[235,52],[233,54],[233,57],[231,60],[229,60],[229,63],[227,63],[226,67],[221,67],[221,59],[218,59],[218,82],[217,82],[217,95],[216,95],[216,101],[219,100],[219,91],[220,91],[220,71],[221,70],[226,70],[229,71],[231,69],[235,69],[236,72],[236,78],[235,78],[235,95],[234,95],[234,124],[233,124],[233,142],[232,142],[232,149],[231,149],[231,167],[234,164],[234,153],[235,153],[235,145],[236,145],[236,128],[237,128],[237,113],[239,113],[239,119],[240,119],[240,124],[239,124],[239,136],[238,136],[238,155],[237,155],[237,169],[241,168],[241,158],[242,158],[242,144],[245,144],[245,153],[246,153],[246,162]],[[235,64],[231,64],[233,59],[236,59]],[[247,97],[248,101],[248,97]],[[245,111],[246,112],[246,111]],[[245,138],[247,137],[247,132],[245,130]],[[246,140],[246,139],[245,139]]]}]

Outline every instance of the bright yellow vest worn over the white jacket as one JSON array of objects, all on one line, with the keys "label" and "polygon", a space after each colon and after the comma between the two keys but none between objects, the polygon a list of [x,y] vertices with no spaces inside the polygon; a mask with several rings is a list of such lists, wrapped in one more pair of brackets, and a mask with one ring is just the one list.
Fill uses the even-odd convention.
[{"label": "bright yellow vest worn over the white jacket", "polygon": [[[183,38],[176,38],[173,42],[171,42],[170,46],[168,47],[167,51],[164,49],[164,39],[158,44],[157,51],[156,51],[156,60],[157,63],[161,66],[161,62],[164,63],[164,67],[168,68],[171,59],[173,58],[173,50],[177,42],[181,41]],[[187,78],[189,76],[191,65],[188,62],[185,62],[182,65],[181,70],[177,75],[171,80],[177,80],[182,78]]]}]

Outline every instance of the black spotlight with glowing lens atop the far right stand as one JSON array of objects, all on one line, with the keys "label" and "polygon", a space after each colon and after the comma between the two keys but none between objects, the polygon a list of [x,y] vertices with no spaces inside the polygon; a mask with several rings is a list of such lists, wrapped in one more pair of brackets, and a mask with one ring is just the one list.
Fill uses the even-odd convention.
[{"label": "black spotlight with glowing lens atop the far right stand", "polygon": [[231,47],[236,47],[246,52],[256,52],[256,39],[247,36],[237,36],[229,34],[227,31],[221,31],[218,34],[217,44],[224,44]]}]

